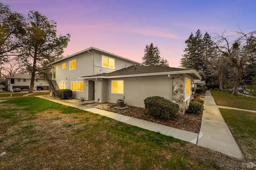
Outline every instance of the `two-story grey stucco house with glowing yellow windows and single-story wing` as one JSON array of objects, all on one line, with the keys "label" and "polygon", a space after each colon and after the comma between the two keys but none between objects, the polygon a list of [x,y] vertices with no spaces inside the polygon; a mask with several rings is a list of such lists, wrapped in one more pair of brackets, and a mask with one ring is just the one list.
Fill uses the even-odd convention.
[{"label": "two-story grey stucco house with glowing yellow windows and single-story wing", "polygon": [[145,66],[136,61],[90,47],[48,64],[60,89],[73,97],[96,102],[144,107],[144,99],[162,96],[180,105],[184,113],[191,100],[191,83],[201,79],[196,70]]}]

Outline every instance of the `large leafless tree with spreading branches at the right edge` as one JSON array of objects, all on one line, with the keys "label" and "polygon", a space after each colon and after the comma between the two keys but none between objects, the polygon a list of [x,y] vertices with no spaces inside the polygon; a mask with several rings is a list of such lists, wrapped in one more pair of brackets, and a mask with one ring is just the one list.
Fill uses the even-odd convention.
[{"label": "large leafless tree with spreading branches at the right edge", "polygon": [[233,96],[238,96],[238,87],[242,82],[245,74],[248,74],[247,65],[256,57],[256,30],[244,33],[240,31],[234,32],[234,35],[217,34],[215,45],[226,57],[234,68],[234,77],[232,83],[234,85]]}]

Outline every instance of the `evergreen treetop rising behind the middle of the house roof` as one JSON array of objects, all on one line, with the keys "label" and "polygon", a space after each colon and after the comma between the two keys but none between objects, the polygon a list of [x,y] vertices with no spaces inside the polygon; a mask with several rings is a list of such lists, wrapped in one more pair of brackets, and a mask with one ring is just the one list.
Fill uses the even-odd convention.
[{"label": "evergreen treetop rising behind the middle of the house roof", "polygon": [[169,66],[168,61],[160,57],[160,51],[157,46],[154,47],[153,43],[146,45],[146,48],[144,49],[144,57],[142,57],[142,63],[149,66]]}]

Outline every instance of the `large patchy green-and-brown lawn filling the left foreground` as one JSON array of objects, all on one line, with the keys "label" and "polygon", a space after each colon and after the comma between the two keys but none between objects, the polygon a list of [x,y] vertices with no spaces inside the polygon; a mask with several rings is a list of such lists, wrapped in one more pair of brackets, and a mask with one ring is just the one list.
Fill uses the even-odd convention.
[{"label": "large patchy green-and-brown lawn filling the left foreground", "polygon": [[34,96],[1,98],[0,169],[227,169],[238,160]]}]

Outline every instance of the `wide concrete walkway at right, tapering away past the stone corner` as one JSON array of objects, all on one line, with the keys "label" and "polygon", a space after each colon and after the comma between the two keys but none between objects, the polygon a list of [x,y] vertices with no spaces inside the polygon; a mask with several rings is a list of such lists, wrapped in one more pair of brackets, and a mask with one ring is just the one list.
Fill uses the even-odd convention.
[{"label": "wide concrete walkway at right, tapering away past the stone corner", "polygon": [[210,91],[206,92],[197,145],[235,158],[244,158]]}]

